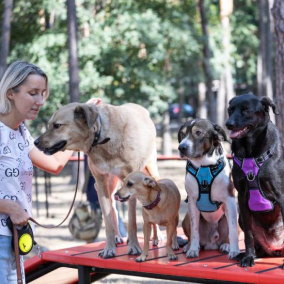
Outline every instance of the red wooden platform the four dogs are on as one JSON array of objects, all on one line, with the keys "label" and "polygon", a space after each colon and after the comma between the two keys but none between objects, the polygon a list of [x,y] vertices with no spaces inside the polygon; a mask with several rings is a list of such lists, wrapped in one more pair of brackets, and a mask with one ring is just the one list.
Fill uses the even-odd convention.
[{"label": "red wooden platform the four dogs are on", "polygon": [[[143,238],[139,238],[143,247]],[[116,273],[198,283],[284,283],[283,257],[256,259],[254,267],[240,267],[237,261],[218,251],[201,251],[198,258],[188,259],[182,249],[176,252],[178,260],[169,261],[165,242],[150,246],[146,262],[137,263],[136,256],[127,255],[127,245],[119,245],[116,257],[102,259],[98,253],[105,243],[92,243],[77,247],[47,251],[41,259],[33,257],[25,262],[27,282],[31,282],[54,269],[78,269],[78,278],[72,283],[88,284],[106,275]],[[240,248],[244,249],[243,240]]]}]

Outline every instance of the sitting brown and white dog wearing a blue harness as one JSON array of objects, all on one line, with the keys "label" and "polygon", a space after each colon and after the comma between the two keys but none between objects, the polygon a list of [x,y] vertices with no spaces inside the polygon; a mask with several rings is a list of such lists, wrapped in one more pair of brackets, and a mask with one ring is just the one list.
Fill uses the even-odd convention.
[{"label": "sitting brown and white dog wearing a blue harness", "polygon": [[[229,258],[240,252],[237,207],[223,140],[227,140],[224,130],[206,119],[190,120],[178,133],[180,156],[187,158],[188,215],[183,227],[190,236],[184,247],[188,258],[198,257],[200,246],[229,252]],[[208,230],[212,236],[200,237]]]}]

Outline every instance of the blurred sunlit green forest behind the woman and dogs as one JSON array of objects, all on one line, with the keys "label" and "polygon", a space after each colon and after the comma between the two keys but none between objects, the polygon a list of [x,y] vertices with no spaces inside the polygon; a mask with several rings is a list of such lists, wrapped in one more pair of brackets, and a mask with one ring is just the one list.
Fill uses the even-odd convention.
[{"label": "blurred sunlit green forest behind the woman and dogs", "polygon": [[[223,127],[235,95],[284,107],[283,0],[2,0],[0,16],[0,78],[18,59],[49,76],[35,135],[60,106],[91,97],[143,105],[165,142],[171,103]],[[284,114],[272,119],[284,137]]]}]

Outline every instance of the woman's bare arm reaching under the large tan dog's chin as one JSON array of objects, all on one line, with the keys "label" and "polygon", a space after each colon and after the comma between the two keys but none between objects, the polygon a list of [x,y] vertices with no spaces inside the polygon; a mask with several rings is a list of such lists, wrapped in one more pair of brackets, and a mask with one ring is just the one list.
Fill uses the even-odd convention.
[{"label": "woman's bare arm reaching under the large tan dog's chin", "polygon": [[46,155],[36,147],[29,153],[34,166],[52,174],[59,174],[72,154],[73,151],[65,150],[53,155]]}]

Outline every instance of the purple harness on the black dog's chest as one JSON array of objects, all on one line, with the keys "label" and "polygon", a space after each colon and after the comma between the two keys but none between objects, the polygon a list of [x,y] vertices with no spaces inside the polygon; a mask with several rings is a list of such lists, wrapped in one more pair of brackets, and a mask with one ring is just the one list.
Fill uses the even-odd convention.
[{"label": "purple harness on the black dog's chest", "polygon": [[249,189],[248,205],[251,211],[264,212],[271,211],[274,208],[273,202],[266,199],[259,183],[259,170],[273,154],[268,150],[257,158],[237,158],[233,156],[234,162],[242,169],[247,178]]}]

